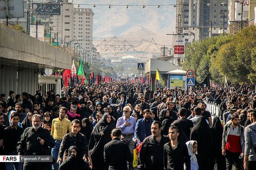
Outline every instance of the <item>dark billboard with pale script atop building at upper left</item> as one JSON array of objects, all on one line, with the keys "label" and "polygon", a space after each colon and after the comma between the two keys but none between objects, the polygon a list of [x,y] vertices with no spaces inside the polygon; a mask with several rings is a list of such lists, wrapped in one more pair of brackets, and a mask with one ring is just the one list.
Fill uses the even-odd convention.
[{"label": "dark billboard with pale script atop building at upper left", "polygon": [[60,15],[60,4],[34,3],[36,14],[40,15]]}]

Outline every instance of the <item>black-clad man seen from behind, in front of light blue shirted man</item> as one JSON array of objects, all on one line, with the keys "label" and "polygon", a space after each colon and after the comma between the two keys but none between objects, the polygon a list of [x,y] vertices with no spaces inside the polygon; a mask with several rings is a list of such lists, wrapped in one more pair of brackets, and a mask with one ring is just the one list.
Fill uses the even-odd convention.
[{"label": "black-clad man seen from behind, in front of light blue shirted man", "polygon": [[104,147],[104,159],[109,170],[127,170],[127,162],[132,162],[128,145],[121,141],[122,131],[115,128],[111,132],[112,140]]}]

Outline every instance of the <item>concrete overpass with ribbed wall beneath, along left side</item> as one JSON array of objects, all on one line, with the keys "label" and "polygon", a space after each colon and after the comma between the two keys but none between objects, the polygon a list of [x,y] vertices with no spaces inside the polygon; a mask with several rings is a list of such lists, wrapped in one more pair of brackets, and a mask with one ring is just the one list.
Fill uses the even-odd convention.
[{"label": "concrete overpass with ribbed wall beneath, along left side", "polygon": [[71,55],[0,24],[0,93],[38,89],[39,69],[71,69]]}]

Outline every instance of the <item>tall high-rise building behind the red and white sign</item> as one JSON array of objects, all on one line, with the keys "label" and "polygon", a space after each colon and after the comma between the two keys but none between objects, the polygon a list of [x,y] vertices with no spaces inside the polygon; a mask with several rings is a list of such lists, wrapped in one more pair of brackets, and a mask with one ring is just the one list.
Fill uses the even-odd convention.
[{"label": "tall high-rise building behind the red and white sign", "polygon": [[195,40],[219,35],[223,18],[227,32],[228,0],[177,0],[176,10],[177,33],[195,35]]}]

